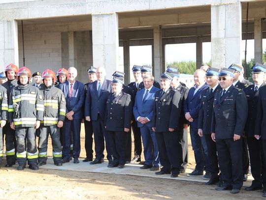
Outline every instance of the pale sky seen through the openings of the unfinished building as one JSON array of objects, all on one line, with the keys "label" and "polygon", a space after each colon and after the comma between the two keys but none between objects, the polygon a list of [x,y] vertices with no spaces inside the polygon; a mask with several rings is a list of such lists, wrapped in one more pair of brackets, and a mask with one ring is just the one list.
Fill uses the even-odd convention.
[{"label": "pale sky seen through the openings of the unfinished building", "polygon": [[[120,61],[123,65],[123,47],[120,47]],[[263,50],[266,50],[266,39],[263,39]],[[245,58],[245,40],[242,40],[242,59]],[[196,43],[187,44],[169,44],[166,45],[166,62],[173,61],[196,61]],[[254,40],[247,40],[247,61],[254,58]],[[202,60],[203,63],[211,60],[211,43],[202,43]],[[130,64],[133,66],[152,64],[152,47],[148,46],[131,46],[130,47]]]}]

